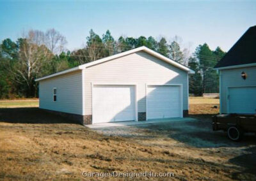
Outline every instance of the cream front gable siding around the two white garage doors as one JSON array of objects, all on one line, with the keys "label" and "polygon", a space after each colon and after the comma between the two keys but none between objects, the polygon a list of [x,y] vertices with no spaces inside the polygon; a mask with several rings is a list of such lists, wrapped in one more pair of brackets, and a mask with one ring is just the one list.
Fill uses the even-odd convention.
[{"label": "cream front gable siding around the two white garage doors", "polygon": [[183,110],[188,110],[188,72],[140,51],[86,68],[84,114],[92,115],[92,83],[137,85],[138,112],[146,112],[147,84],[182,84]]}]

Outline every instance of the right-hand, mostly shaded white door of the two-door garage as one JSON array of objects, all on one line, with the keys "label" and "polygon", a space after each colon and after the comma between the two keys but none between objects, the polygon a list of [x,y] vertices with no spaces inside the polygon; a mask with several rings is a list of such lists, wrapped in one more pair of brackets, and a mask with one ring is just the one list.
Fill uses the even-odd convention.
[{"label": "right-hand, mostly shaded white door of the two-door garage", "polygon": [[150,85],[147,89],[147,119],[182,117],[180,86]]}]

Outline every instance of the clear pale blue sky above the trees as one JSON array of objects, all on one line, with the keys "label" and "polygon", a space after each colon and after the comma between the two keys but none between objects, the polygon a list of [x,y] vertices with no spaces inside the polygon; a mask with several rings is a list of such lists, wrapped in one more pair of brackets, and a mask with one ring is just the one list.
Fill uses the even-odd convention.
[{"label": "clear pale blue sky above the trees", "polygon": [[0,41],[29,29],[54,28],[68,50],[83,47],[90,29],[102,36],[182,38],[191,52],[203,43],[228,51],[256,25],[255,1],[5,1],[0,0]]}]

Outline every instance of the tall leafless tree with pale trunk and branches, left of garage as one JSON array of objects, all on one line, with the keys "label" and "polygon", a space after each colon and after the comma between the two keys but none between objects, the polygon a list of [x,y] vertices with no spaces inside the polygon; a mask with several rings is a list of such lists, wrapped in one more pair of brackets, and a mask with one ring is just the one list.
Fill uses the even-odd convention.
[{"label": "tall leafless tree with pale trunk and branches, left of garage", "polygon": [[41,76],[42,68],[49,62],[51,51],[42,42],[40,31],[29,31],[24,38],[19,39],[19,57],[17,63],[10,69],[15,75],[15,82],[26,83],[27,96],[35,96],[36,77]]}]

